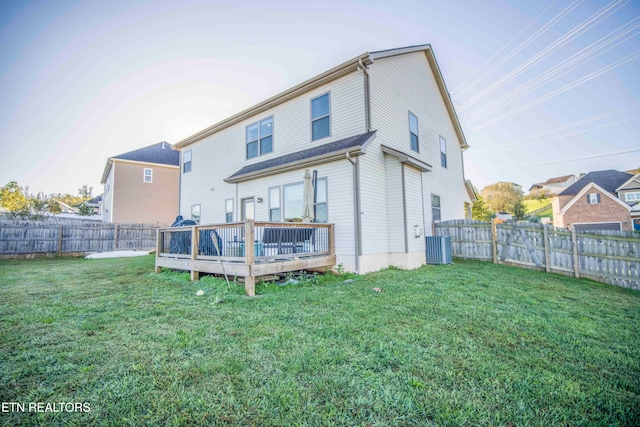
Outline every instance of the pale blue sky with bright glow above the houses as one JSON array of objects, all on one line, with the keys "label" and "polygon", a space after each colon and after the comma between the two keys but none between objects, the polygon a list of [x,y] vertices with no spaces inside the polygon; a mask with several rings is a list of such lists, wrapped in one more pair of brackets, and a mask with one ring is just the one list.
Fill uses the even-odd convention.
[{"label": "pale blue sky with bright glow above the houses", "polygon": [[635,169],[639,34],[640,0],[0,0],[0,186],[100,194],[110,156],[426,43],[476,187]]}]

